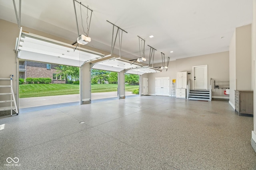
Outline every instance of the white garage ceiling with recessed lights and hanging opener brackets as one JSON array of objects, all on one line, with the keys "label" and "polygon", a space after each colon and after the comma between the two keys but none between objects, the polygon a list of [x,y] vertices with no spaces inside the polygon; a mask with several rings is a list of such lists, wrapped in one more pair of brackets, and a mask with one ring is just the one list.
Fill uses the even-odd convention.
[{"label": "white garage ceiling with recessed lights and hanging opener brackets", "polygon": [[[154,63],[162,62],[160,52],[172,61],[228,51],[235,28],[252,23],[252,0],[80,1],[93,10],[88,46],[110,52],[112,25],[108,20],[128,32],[122,37],[122,57],[140,57],[138,35],[146,40],[146,59],[147,45],[157,49]],[[78,3],[76,12],[80,34],[84,34]],[[22,0],[21,14],[21,25],[72,41],[78,37],[72,0]],[[17,23],[11,0],[0,1],[0,18]],[[84,7],[82,18],[86,30]]]}]

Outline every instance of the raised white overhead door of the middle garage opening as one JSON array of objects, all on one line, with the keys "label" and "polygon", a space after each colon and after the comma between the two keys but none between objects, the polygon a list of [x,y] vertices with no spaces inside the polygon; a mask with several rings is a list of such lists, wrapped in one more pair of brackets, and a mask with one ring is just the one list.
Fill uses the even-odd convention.
[{"label": "raised white overhead door of the middle garage opening", "polygon": [[110,59],[94,64],[93,69],[120,72],[130,68],[141,68],[141,64],[135,64],[123,59]]}]

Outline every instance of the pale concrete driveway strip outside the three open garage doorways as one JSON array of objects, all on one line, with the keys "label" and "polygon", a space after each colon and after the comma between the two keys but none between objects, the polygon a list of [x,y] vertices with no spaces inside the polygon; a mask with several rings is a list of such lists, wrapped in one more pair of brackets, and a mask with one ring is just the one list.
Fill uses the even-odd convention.
[{"label": "pale concrete driveway strip outside the three open garage doorways", "polygon": [[[125,96],[134,95],[132,92],[125,92]],[[62,104],[70,102],[79,102],[80,94],[70,94],[61,96],[45,96],[45,97],[34,97],[34,98],[20,98],[19,108],[46,106],[52,104]],[[92,100],[104,99],[104,98],[117,98],[117,92],[103,92],[103,93],[92,93]]]}]

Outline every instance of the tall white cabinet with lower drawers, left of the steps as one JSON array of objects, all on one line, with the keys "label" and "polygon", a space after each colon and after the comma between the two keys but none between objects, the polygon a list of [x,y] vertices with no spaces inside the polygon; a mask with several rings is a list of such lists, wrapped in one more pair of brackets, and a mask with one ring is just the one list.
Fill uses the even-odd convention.
[{"label": "tall white cabinet with lower drawers, left of the steps", "polygon": [[187,96],[187,74],[188,72],[177,72],[176,98],[186,98]]}]

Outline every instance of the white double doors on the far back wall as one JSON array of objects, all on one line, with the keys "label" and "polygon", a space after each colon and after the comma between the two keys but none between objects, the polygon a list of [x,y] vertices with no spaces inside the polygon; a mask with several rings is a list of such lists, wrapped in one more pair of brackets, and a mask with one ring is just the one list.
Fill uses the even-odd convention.
[{"label": "white double doors on the far back wall", "polygon": [[170,95],[170,77],[156,78],[156,95],[158,96]]}]

